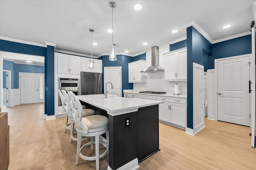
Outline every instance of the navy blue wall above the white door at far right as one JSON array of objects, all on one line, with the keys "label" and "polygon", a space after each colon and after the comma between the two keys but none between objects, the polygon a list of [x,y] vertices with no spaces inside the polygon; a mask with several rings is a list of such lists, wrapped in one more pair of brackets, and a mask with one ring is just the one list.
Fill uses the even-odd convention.
[{"label": "navy blue wall above the white door at far right", "polygon": [[208,58],[208,69],[214,68],[214,59],[252,53],[252,36],[246,35],[212,44],[212,55]]}]

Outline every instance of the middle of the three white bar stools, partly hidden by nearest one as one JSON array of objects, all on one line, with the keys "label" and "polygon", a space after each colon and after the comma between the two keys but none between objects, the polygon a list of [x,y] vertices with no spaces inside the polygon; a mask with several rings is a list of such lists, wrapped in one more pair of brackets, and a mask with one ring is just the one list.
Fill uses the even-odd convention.
[{"label": "middle of the three white bar stools, partly hidden by nearest one", "polygon": [[[74,123],[75,123],[75,121],[74,121],[73,115],[71,113],[71,109],[72,109],[73,104],[71,103],[70,98],[68,97],[68,94],[65,90],[62,90],[62,94],[63,94],[64,100],[65,100],[64,110],[65,110],[66,113],[68,113],[68,118],[70,119],[70,143],[72,143],[72,141],[77,141],[77,138],[74,137],[74,134],[76,133],[76,132],[74,132]],[[90,116],[90,115],[94,115],[94,114],[95,114],[95,111],[93,109],[82,109],[82,117],[86,117],[86,116]],[[87,139],[88,138],[83,138],[82,141],[87,140]],[[91,139],[91,140],[93,140],[93,139]]]}]

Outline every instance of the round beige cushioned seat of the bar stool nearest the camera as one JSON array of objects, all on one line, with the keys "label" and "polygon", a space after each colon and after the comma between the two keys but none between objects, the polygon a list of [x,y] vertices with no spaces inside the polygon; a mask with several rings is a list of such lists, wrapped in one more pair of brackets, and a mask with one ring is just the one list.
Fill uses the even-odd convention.
[{"label": "round beige cushioned seat of the bar stool nearest the camera", "polygon": [[[83,117],[81,122],[88,127],[88,132],[90,133],[98,131],[101,127],[108,126],[108,117],[103,115],[91,115]],[[76,123],[76,130],[83,130],[80,123]]]}]

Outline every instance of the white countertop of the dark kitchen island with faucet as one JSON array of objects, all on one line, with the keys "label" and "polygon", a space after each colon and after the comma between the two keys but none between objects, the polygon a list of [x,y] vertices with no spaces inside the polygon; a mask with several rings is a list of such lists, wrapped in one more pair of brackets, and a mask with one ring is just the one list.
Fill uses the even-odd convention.
[{"label": "white countertop of the dark kitchen island with faucet", "polygon": [[80,95],[77,96],[77,98],[83,102],[106,110],[107,113],[112,116],[138,111],[140,107],[164,103],[157,100],[122,98],[113,95],[108,95],[108,98],[104,98],[104,94]]}]

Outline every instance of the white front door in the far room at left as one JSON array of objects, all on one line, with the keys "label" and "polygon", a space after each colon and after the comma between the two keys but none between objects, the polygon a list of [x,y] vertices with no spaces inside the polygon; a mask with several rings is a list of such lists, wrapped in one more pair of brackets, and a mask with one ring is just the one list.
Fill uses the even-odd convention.
[{"label": "white front door in the far room at left", "polygon": [[38,74],[20,73],[20,104],[38,103]]}]

